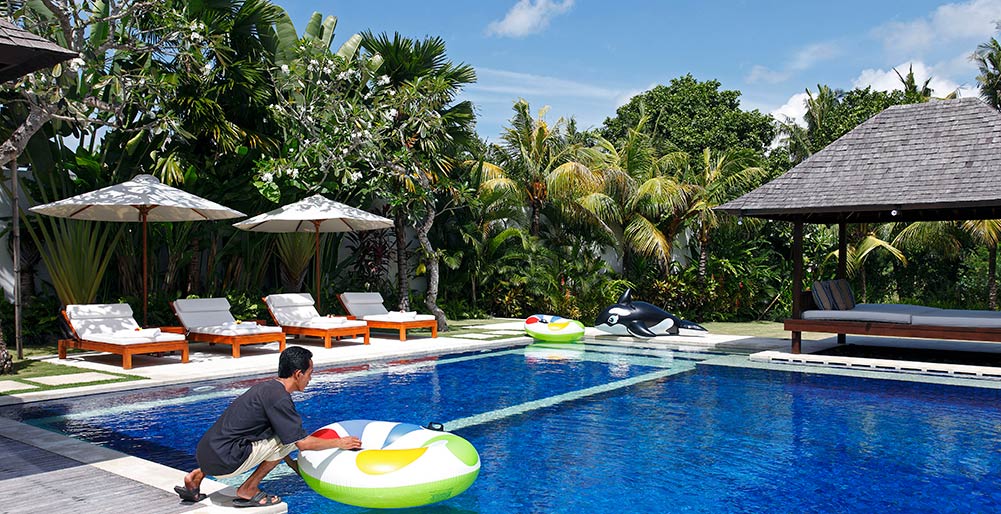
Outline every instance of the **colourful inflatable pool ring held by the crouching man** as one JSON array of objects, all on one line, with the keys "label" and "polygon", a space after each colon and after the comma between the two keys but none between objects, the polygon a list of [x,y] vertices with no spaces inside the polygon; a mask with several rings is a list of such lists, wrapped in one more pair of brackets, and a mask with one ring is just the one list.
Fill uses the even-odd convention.
[{"label": "colourful inflatable pool ring held by the crouching man", "polygon": [[317,493],[367,508],[416,507],[465,491],[479,474],[479,454],[466,440],[408,423],[351,420],[313,436],[354,436],[361,450],[299,452],[299,472]]}]

